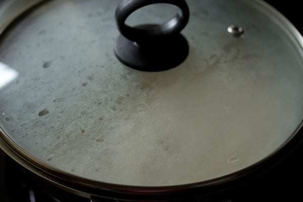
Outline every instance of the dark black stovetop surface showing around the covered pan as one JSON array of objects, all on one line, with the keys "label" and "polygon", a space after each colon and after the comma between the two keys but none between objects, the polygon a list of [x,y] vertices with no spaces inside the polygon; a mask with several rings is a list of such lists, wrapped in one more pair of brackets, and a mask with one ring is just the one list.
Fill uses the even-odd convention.
[{"label": "dark black stovetop surface showing around the covered pan", "polygon": [[[267,2],[282,12],[295,27],[303,33],[299,1],[289,0],[285,2],[267,0]],[[231,188],[222,194],[218,194],[218,199],[222,196],[224,200],[220,201],[303,201],[301,194],[301,192],[303,192],[303,185],[301,184],[303,181],[302,156],[303,144],[286,160],[275,166],[269,172],[245,182],[238,187]],[[60,200],[48,195],[47,190],[43,189],[43,187],[29,182],[17,164],[0,149],[0,201],[55,202]],[[75,199],[72,201],[75,201]],[[81,201],[89,201],[89,199],[82,198]]]}]

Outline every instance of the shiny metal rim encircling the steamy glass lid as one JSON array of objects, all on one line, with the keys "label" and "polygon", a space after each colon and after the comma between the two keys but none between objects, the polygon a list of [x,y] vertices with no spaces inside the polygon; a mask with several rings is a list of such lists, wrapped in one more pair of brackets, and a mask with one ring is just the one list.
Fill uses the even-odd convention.
[{"label": "shiny metal rim encircling the steamy glass lid", "polygon": [[[46,0],[33,0],[27,5],[21,5],[22,8],[17,8],[18,12],[11,13],[11,16],[5,18],[5,23],[0,25],[0,36],[16,19],[45,1]],[[303,37],[280,12],[278,12],[268,3],[261,0],[255,0],[250,4],[258,4],[259,6],[262,6],[271,11],[272,14],[274,14],[276,18],[279,19],[283,26],[285,26],[285,28],[291,32],[293,37],[297,40],[298,44],[303,47]],[[150,200],[157,200],[161,197],[180,198],[180,194],[184,196],[183,194],[186,193],[192,195],[194,194],[193,190],[198,190],[199,194],[212,193],[227,188],[233,184],[237,184],[239,183],[239,180],[241,181],[243,179],[249,179],[250,177],[255,176],[256,173],[260,174],[262,172],[265,172],[266,170],[279,163],[283,158],[287,157],[287,155],[289,155],[291,151],[303,141],[303,135],[300,135],[300,128],[302,127],[303,120],[283,145],[273,151],[273,153],[268,157],[251,166],[219,178],[175,186],[143,187],[110,184],[68,174],[62,170],[59,170],[42,162],[41,160],[29,154],[13,139],[11,139],[2,130],[2,128],[0,128],[0,148],[3,149],[5,153],[7,153],[12,159],[14,159],[29,171],[53,184],[56,184],[60,188],[77,195],[89,197],[90,195],[99,196],[100,194],[103,194],[102,196],[117,198],[116,194],[119,194],[118,197],[125,196],[126,198],[132,198],[135,194],[135,198],[137,198],[137,200],[141,200],[145,197],[148,197]]]}]

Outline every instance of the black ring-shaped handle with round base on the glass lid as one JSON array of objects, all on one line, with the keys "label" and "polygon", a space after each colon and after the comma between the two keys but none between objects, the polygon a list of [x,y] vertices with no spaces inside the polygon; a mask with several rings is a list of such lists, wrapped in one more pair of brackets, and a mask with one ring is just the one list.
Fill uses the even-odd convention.
[{"label": "black ring-shaped handle with round base on the glass lid", "polygon": [[[180,9],[171,20],[161,24],[130,27],[126,19],[134,11],[151,4],[166,3]],[[189,20],[184,0],[123,0],[116,10],[121,35],[115,44],[115,54],[125,65],[142,71],[163,71],[181,64],[188,55],[188,43],[180,34]]]}]

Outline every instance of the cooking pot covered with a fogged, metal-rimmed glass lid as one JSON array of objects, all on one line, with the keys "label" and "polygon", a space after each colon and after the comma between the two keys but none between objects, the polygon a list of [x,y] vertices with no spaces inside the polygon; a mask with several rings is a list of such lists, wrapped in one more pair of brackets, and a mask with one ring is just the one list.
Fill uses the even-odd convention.
[{"label": "cooking pot covered with a fogged, metal-rimmed glass lid", "polygon": [[39,183],[93,201],[199,201],[302,139],[302,37],[262,1],[4,8],[0,145]]}]

